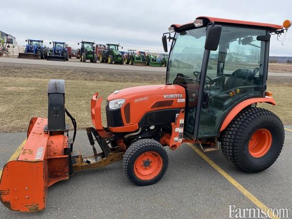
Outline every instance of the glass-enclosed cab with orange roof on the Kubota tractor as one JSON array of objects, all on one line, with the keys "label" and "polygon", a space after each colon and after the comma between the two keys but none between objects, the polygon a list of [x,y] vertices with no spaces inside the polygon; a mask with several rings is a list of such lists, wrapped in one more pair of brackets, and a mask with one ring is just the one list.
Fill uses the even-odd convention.
[{"label": "glass-enclosed cab with orange roof on the Kubota tractor", "polygon": [[[185,134],[214,138],[234,107],[250,98],[266,97],[270,34],[267,25],[199,17],[194,23],[171,25],[166,84],[186,89]],[[167,48],[165,52],[167,52]]]}]

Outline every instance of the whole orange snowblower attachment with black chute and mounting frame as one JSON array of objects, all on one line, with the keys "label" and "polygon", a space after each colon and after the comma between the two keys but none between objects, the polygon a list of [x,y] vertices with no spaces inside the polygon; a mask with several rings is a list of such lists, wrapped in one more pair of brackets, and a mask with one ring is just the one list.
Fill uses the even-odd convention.
[{"label": "whole orange snowblower attachment with black chute and mounting frame", "polygon": [[[75,171],[99,168],[121,160],[124,150],[109,147],[106,139],[113,135],[101,124],[101,98],[94,94],[91,101],[92,121],[96,128],[87,128],[87,135],[94,155],[83,157],[72,151],[76,136],[76,121],[65,109],[64,80],[49,82],[48,118],[30,120],[27,139],[0,170],[0,200],[10,210],[39,211],[46,206],[48,187],[68,179]],[[68,138],[69,126],[65,114],[74,126],[74,135]],[[95,140],[93,139],[95,138]],[[94,144],[98,143],[101,153]]]}]

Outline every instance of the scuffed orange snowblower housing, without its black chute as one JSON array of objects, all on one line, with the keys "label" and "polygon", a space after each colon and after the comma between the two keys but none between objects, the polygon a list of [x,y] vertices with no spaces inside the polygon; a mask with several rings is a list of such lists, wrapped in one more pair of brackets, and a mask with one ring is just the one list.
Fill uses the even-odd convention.
[{"label": "scuffed orange snowblower housing, without its black chute", "polygon": [[48,187],[69,177],[68,137],[49,135],[47,124],[48,119],[33,118],[27,140],[0,171],[0,200],[11,210],[43,210]]}]

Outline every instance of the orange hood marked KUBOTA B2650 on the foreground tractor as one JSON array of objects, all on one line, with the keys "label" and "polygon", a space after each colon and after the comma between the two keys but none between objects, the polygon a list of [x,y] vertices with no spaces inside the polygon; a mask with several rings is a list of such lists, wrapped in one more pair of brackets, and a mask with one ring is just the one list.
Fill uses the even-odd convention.
[{"label": "orange hood marked KUBOTA B2650 on the foreground tractor", "polygon": [[[146,113],[161,109],[185,108],[186,93],[185,88],[179,85],[149,85],[126,88],[107,97],[107,101],[114,99],[126,99],[121,107],[124,126],[108,127],[109,130],[112,132],[133,132],[139,128],[138,123]],[[162,104],[165,103],[164,101],[167,104]],[[125,118],[124,109],[127,104],[130,104],[131,108],[130,120]]]}]

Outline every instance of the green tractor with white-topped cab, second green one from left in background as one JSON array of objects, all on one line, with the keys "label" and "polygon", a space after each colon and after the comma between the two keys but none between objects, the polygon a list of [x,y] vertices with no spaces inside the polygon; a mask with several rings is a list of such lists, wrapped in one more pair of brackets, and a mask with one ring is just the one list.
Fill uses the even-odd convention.
[{"label": "green tractor with white-topped cab, second green one from left in background", "polygon": [[124,64],[124,56],[119,51],[119,47],[119,44],[106,44],[106,50],[100,53],[99,61],[108,64]]}]

